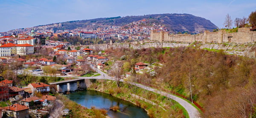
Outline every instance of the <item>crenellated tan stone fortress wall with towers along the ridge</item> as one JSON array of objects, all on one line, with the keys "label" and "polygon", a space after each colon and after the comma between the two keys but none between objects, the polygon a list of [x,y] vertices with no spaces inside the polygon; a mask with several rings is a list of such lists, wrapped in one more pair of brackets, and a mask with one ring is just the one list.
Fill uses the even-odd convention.
[{"label": "crenellated tan stone fortress wall with towers along the ridge", "polygon": [[256,41],[256,31],[250,31],[250,28],[238,28],[238,32],[226,33],[224,30],[210,32],[204,31],[203,34],[169,34],[164,31],[151,30],[151,40],[163,41],[176,41],[176,42],[232,42],[236,44],[244,44]]}]

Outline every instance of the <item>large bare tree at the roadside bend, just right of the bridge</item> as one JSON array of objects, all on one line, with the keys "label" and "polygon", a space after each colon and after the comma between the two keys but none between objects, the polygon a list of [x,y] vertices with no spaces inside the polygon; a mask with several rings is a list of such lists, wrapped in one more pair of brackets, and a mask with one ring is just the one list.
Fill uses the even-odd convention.
[{"label": "large bare tree at the roadside bend, just right of the bridge", "polygon": [[113,65],[111,69],[111,75],[114,76],[117,87],[119,87],[119,81],[122,79],[123,70],[121,66]]}]

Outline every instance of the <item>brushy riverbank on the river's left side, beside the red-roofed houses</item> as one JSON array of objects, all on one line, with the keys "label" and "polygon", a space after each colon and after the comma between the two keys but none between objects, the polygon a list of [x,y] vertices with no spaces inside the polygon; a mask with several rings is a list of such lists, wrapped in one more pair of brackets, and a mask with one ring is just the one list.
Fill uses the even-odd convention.
[{"label": "brushy riverbank on the river's left side, beside the red-roofed houses", "polygon": [[80,104],[77,104],[74,101],[71,101],[69,98],[63,94],[56,94],[58,100],[62,101],[64,104],[64,109],[69,109],[70,112],[68,115],[63,116],[63,118],[109,118],[107,111],[104,109],[96,109],[91,107],[83,107]]}]

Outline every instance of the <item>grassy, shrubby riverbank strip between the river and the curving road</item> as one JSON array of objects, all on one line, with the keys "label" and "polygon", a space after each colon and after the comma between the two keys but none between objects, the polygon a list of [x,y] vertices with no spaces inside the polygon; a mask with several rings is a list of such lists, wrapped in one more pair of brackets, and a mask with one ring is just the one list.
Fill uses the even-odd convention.
[{"label": "grassy, shrubby riverbank strip between the river and the curving road", "polygon": [[[115,81],[97,80],[93,81],[89,89],[108,93],[117,98],[129,101],[146,110],[151,118],[189,118],[187,111],[176,101],[134,85],[121,82],[118,88]],[[142,99],[134,97],[134,95],[140,96]],[[155,104],[153,105],[152,103]]]}]

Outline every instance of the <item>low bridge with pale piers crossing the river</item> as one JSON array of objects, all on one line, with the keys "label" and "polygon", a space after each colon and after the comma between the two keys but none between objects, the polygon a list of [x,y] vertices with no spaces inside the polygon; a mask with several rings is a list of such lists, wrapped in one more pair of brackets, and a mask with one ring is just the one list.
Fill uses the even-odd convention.
[{"label": "low bridge with pale piers crossing the river", "polygon": [[56,92],[59,93],[65,93],[65,92],[71,92],[75,91],[78,89],[86,89],[87,84],[90,84],[89,79],[84,79],[84,78],[79,78],[79,79],[71,79],[71,80],[65,80],[65,81],[58,81],[58,82],[53,82],[49,83],[51,86],[56,87],[57,90]]}]

